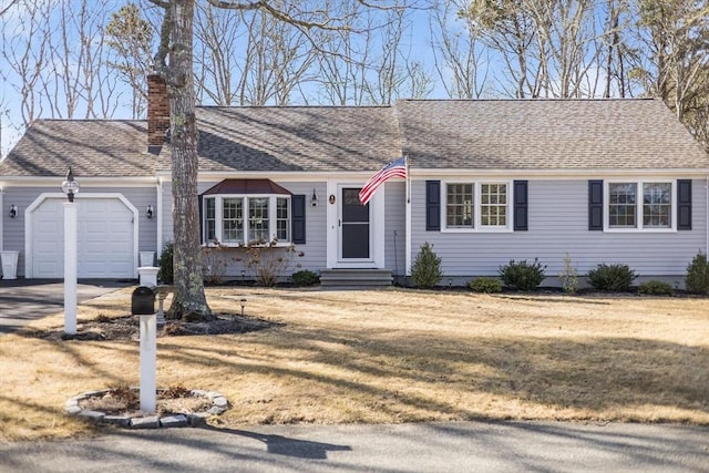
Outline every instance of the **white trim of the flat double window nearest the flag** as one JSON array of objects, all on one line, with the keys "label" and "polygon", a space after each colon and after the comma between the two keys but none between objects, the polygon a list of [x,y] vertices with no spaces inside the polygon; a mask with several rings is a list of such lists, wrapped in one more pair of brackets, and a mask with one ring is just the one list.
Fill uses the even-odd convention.
[{"label": "white trim of the flat double window nearest the flag", "polygon": [[[448,226],[448,186],[449,184],[472,184],[473,185],[473,227],[449,227]],[[506,225],[485,225],[481,224],[482,222],[482,212],[481,212],[481,192],[483,184],[504,184],[507,186],[507,203],[505,204],[506,208]],[[453,181],[441,181],[441,233],[451,233],[451,234],[471,234],[471,233],[512,233],[513,232],[513,219],[512,215],[513,207],[512,203],[514,202],[514,186],[512,185],[512,181],[506,179],[453,179]]]}]

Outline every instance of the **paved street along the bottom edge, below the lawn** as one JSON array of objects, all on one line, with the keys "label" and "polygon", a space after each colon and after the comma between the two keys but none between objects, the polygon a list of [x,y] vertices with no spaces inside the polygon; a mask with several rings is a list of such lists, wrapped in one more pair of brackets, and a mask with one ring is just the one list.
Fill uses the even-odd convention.
[{"label": "paved street along the bottom edge, below the lawn", "polygon": [[0,444],[0,471],[709,471],[709,429],[679,425],[463,422],[114,432]]}]

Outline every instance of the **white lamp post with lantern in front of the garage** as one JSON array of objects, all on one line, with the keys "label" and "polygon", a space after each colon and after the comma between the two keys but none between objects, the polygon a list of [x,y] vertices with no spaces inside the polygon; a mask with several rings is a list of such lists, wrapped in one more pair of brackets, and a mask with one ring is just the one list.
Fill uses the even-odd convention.
[{"label": "white lamp post with lantern in front of the garage", "polygon": [[66,194],[64,202],[64,332],[76,333],[76,222],[78,205],[74,195],[79,193],[79,183],[74,179],[71,167],[66,179],[62,183],[62,192]]}]

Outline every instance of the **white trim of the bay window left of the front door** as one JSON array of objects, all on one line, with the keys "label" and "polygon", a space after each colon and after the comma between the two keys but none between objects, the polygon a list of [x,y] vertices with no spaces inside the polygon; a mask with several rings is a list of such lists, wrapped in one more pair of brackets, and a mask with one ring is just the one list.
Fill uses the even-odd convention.
[{"label": "white trim of the bay window left of the front door", "polygon": [[[206,226],[206,199],[208,198],[214,198],[214,213],[215,213],[215,228],[214,228],[214,234],[215,237],[217,239],[217,241],[219,243],[220,246],[227,246],[227,247],[233,247],[233,248],[240,248],[240,247],[245,247],[248,246],[249,240],[248,240],[248,233],[249,233],[249,227],[248,227],[248,199],[249,198],[268,198],[268,232],[270,233],[270,238],[269,240],[264,244],[264,245],[256,245],[256,246],[269,246],[270,241],[273,241],[276,238],[276,234],[278,232],[277,229],[277,217],[278,217],[278,209],[277,209],[277,199],[278,198],[286,198],[288,199],[288,236],[289,239],[288,240],[278,240],[278,243],[275,245],[276,247],[287,247],[290,246],[292,243],[292,199],[290,195],[286,195],[286,194],[210,194],[210,195],[205,195],[202,199],[202,233],[203,233],[203,240],[205,243],[203,243],[202,246],[216,246],[214,244],[213,240],[207,239],[207,226]],[[225,198],[242,198],[244,202],[244,212],[243,212],[243,219],[244,219],[244,240],[243,241],[224,241],[224,199]],[[255,246],[255,245],[251,245]]]}]

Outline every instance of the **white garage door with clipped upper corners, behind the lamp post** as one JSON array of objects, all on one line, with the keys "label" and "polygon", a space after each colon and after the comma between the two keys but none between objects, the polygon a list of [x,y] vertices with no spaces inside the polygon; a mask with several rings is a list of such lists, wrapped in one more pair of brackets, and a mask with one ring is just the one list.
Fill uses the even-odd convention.
[{"label": "white garage door with clipped upper corners, behind the lamp post", "polygon": [[[64,276],[63,199],[48,198],[32,213],[32,277]],[[134,277],[133,212],[119,198],[76,198],[80,278]]]}]

